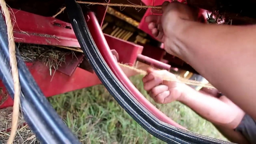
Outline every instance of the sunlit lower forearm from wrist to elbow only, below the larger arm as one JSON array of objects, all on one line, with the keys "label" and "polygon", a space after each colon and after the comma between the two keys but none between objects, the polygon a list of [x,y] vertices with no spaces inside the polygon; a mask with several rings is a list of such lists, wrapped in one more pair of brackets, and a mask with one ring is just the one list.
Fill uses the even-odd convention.
[{"label": "sunlit lower forearm from wrist to elbow only, below the larger arm", "polygon": [[225,125],[231,128],[237,112],[231,106],[218,98],[195,91],[193,88],[186,87],[179,101],[206,120],[216,124]]}]

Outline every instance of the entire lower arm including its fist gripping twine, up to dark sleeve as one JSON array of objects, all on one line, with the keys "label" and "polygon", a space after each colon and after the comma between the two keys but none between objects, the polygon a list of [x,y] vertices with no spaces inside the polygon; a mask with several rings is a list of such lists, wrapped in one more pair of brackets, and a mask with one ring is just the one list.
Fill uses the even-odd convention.
[{"label": "entire lower arm including its fist gripping twine, up to dark sleeve", "polygon": [[143,78],[144,89],[157,103],[171,103],[178,100],[190,107],[194,112],[205,118],[230,141],[247,144],[246,138],[234,129],[241,122],[244,112],[227,97],[217,98],[218,90],[203,89],[200,92],[188,85],[163,81],[159,75],[176,78],[168,71],[149,69]]}]

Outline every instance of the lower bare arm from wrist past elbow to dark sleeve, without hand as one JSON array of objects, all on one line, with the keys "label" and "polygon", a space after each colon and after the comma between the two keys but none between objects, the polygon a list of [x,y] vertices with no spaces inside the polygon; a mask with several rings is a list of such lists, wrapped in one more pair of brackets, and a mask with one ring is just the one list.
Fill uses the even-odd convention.
[{"label": "lower bare arm from wrist past elbow to dark sleeve, without hand", "polygon": [[238,144],[249,144],[246,138],[234,131],[243,119],[244,112],[227,97],[213,97],[204,91],[198,92],[188,87],[181,103],[190,107],[194,112],[205,118],[221,132],[229,141]]}]

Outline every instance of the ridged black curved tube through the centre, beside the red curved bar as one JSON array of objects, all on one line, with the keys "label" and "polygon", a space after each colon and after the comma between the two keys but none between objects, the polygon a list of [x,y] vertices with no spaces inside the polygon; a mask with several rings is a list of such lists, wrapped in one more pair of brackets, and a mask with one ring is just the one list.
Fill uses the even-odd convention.
[{"label": "ridged black curved tube through the centre, beside the red curved bar", "polygon": [[84,51],[85,56],[93,67],[99,79],[107,88],[115,100],[126,110],[126,112],[138,122],[150,134],[167,143],[180,144],[223,144],[225,141],[205,137],[189,131],[174,128],[156,119],[135,100],[125,87],[118,81],[116,76],[106,65],[90,31],[85,23],[81,7],[75,0],[65,0],[66,9],[75,35]]}]

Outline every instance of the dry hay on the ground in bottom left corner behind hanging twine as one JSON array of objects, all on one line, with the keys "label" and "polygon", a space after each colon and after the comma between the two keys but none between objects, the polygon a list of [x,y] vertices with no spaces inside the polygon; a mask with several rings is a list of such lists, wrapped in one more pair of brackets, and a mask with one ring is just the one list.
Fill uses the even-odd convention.
[{"label": "dry hay on the ground in bottom left corner behind hanging twine", "polygon": [[[11,126],[12,107],[0,109],[0,143],[7,143]],[[21,116],[19,117],[18,131],[13,144],[40,144],[33,132],[25,125],[25,121]]]}]

